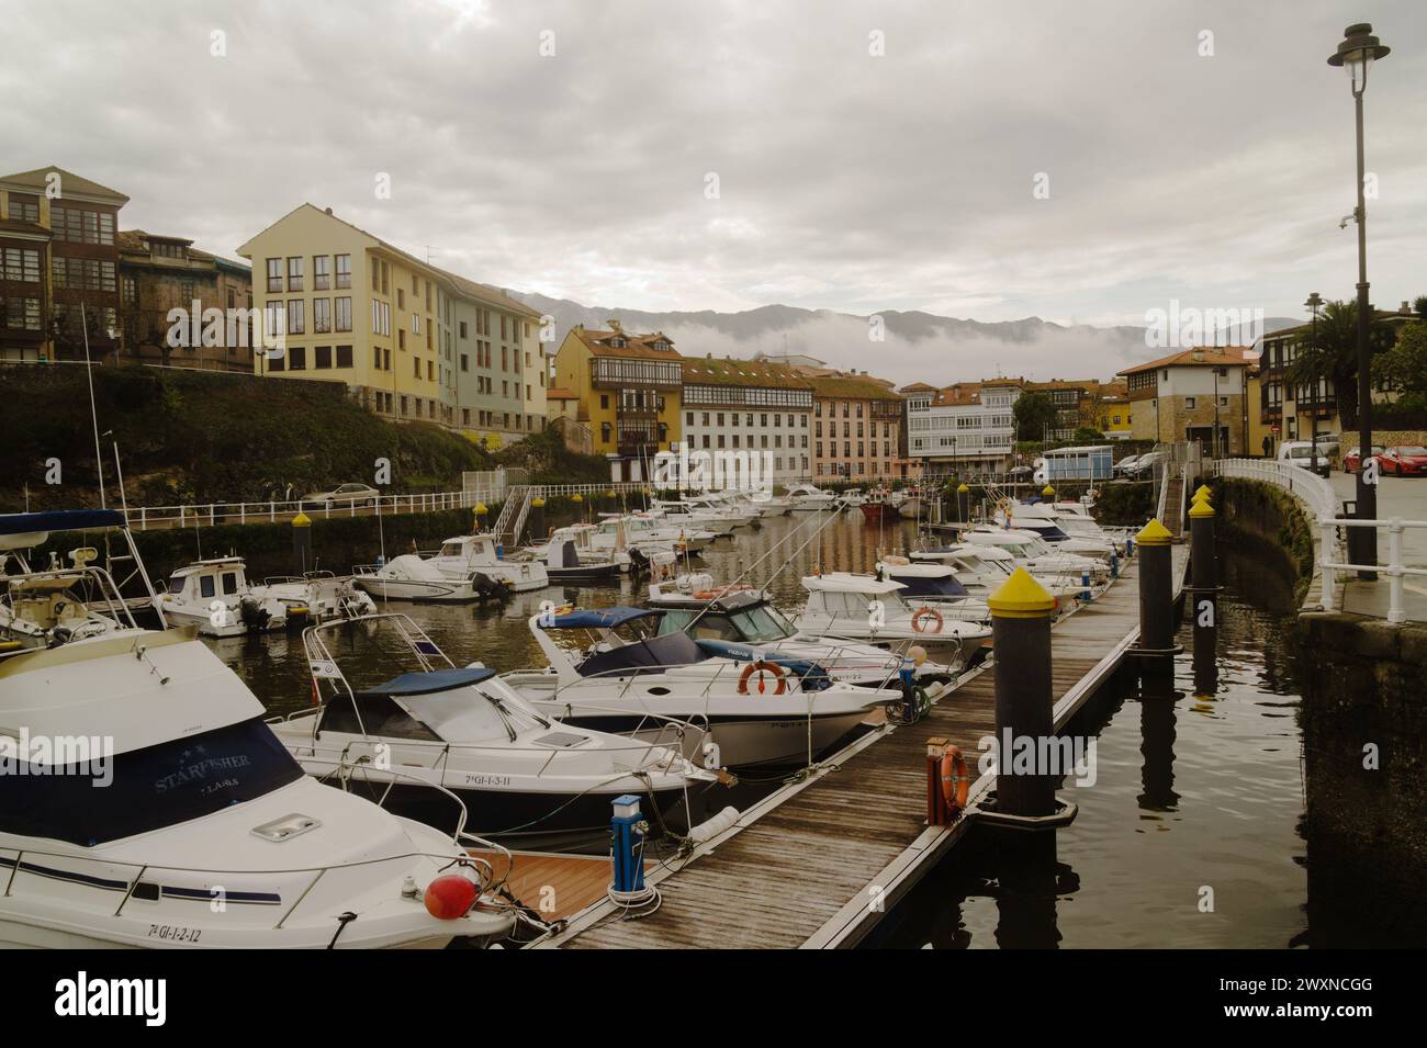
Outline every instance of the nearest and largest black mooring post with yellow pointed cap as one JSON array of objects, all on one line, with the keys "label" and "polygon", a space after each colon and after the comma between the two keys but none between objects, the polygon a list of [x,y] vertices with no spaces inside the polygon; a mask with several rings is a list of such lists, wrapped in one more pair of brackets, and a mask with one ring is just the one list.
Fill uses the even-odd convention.
[{"label": "nearest and largest black mooring post with yellow pointed cap", "polygon": [[1007,816],[1056,813],[1056,777],[1019,774],[1012,746],[1022,739],[1042,751],[1055,736],[1050,682],[1050,616],[1056,599],[1017,567],[986,600],[996,652],[996,811]]}]

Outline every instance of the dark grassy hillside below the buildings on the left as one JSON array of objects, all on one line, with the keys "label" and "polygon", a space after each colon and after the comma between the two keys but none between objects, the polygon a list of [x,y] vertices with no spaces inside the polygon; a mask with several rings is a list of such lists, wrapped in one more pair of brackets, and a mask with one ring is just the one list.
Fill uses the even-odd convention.
[{"label": "dark grassy hillside below the buildings on the left", "polygon": [[[485,451],[422,422],[390,423],[347,398],[340,384],[248,375],[94,368],[94,401],[110,502],[117,502],[118,441],[131,505],[258,500],[348,481],[372,483],[391,461],[391,492],[451,490],[461,471],[489,469]],[[84,368],[0,368],[6,455],[0,509],[97,505],[94,435]],[[59,459],[63,482],[46,483]]]}]

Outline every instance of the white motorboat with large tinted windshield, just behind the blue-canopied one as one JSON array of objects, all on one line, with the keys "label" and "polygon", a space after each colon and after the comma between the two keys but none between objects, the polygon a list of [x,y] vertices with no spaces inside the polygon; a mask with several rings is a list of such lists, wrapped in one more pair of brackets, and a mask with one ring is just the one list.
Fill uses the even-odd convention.
[{"label": "white motorboat with large tinted windshield, just behind the blue-canopied one", "polygon": [[813,663],[833,680],[859,687],[896,687],[903,672],[928,687],[956,680],[959,662],[920,662],[875,644],[829,642],[803,633],[779,612],[768,593],[749,586],[714,586],[708,575],[649,583],[648,606],[661,612],[658,632],[682,630],[708,652],[729,659],[781,656]]}]

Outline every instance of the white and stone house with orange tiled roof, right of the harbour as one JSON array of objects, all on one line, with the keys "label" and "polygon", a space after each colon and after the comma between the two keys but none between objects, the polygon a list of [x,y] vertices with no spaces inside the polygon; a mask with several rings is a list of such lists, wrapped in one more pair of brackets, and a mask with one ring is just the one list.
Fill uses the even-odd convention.
[{"label": "white and stone house with orange tiled roof, right of the harbour", "polygon": [[1199,441],[1209,453],[1243,455],[1249,443],[1247,346],[1184,349],[1119,372],[1140,441]]}]

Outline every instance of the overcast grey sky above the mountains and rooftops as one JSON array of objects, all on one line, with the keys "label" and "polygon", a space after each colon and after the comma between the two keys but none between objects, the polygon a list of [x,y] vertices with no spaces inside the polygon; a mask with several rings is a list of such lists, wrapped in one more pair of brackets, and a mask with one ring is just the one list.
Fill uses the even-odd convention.
[{"label": "overcast grey sky above the mountains and rooftops", "polygon": [[1394,48],[1367,147],[1396,305],[1427,294],[1424,0],[0,0],[0,167],[227,255],[311,201],[592,305],[1291,317],[1353,294],[1326,57],[1357,20]]}]

